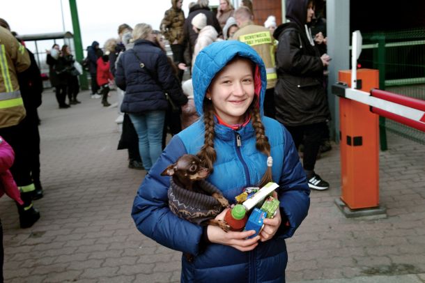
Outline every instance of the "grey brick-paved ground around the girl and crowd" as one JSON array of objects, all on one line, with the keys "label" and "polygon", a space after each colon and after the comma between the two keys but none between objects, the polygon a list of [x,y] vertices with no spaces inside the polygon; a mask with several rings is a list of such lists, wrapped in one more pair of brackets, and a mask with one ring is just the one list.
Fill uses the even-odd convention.
[{"label": "grey brick-paved ground around the girl and crowd", "polygon": [[[157,245],[130,218],[144,171],[117,151],[116,109],[80,94],[81,105],[57,109],[52,91],[40,107],[41,219],[20,229],[17,209],[0,199],[6,282],[178,282],[180,253]],[[116,100],[112,92],[111,102]],[[389,136],[380,153],[380,201],[388,217],[346,219],[339,148],[318,161],[332,188],[311,192],[311,209],[287,241],[287,282],[425,282],[425,146]]]}]

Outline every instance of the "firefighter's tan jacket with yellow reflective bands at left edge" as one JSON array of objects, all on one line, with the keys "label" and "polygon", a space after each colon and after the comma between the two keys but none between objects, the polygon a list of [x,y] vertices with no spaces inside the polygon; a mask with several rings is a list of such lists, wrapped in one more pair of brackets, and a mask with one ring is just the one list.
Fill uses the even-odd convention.
[{"label": "firefighter's tan jacket with yellow reflective bands at left edge", "polygon": [[25,47],[0,26],[0,128],[17,125],[26,115],[16,74],[30,65]]}]

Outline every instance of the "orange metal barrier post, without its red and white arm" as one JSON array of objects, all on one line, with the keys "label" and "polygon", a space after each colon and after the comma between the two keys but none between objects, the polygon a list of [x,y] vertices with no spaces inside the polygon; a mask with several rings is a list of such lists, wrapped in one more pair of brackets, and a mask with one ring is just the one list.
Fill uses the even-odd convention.
[{"label": "orange metal barrier post, without its red and white arm", "polygon": [[[350,78],[351,70],[339,71],[339,82],[350,87]],[[378,88],[378,70],[357,70],[357,86],[360,83],[362,91]],[[379,208],[378,115],[371,113],[368,105],[346,98],[339,99],[339,113],[341,200],[349,208],[346,211],[364,208],[382,211]]]}]

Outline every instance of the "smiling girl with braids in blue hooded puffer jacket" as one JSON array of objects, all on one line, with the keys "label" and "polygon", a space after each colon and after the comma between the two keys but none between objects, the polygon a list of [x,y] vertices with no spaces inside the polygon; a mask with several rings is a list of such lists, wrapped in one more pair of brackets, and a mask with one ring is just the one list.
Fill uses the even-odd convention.
[{"label": "smiling girl with braids in blue hooded puffer jacket", "polygon": [[[181,282],[284,282],[284,239],[307,216],[309,187],[291,135],[263,116],[263,61],[245,43],[212,43],[196,58],[192,79],[201,118],[171,139],[146,175],[134,199],[134,222],[158,243],[192,255],[182,257]],[[184,153],[213,169],[208,181],[231,203],[243,188],[279,183],[277,215],[249,239],[254,231],[226,233],[178,218],[168,206],[169,177],[160,173]]]}]

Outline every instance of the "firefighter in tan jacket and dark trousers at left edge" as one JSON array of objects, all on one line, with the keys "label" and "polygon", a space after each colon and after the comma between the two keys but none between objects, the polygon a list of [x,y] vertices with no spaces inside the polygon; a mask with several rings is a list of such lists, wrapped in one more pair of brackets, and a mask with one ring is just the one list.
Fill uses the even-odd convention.
[{"label": "firefighter in tan jacket and dark trousers at left edge", "polygon": [[17,204],[22,228],[31,227],[40,218],[32,203],[35,187],[25,144],[29,139],[20,125],[26,112],[17,80],[17,72],[23,72],[30,65],[25,47],[10,33],[7,22],[0,19],[0,135],[15,151],[15,162],[10,171],[24,201],[23,205]]}]

